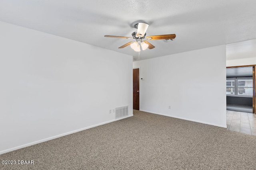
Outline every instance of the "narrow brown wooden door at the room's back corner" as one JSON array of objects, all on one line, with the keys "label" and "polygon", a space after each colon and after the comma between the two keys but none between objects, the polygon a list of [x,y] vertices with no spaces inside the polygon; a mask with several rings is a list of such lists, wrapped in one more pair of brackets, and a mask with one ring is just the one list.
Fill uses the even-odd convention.
[{"label": "narrow brown wooden door at the room's back corner", "polygon": [[133,69],[133,109],[140,110],[140,69]]}]

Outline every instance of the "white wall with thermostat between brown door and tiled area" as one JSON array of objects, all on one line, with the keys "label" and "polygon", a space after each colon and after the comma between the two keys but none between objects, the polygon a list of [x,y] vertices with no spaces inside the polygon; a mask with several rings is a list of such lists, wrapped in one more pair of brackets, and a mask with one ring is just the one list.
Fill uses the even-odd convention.
[{"label": "white wall with thermostat between brown door and tiled area", "polygon": [[135,61],[133,67],[144,78],[140,110],[226,127],[226,45]]}]

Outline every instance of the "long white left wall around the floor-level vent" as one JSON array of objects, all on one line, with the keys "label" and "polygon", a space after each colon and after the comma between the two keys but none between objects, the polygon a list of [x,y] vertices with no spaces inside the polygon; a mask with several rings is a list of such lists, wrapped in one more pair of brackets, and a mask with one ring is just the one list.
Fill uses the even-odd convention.
[{"label": "long white left wall around the floor-level vent", "polygon": [[0,154],[115,119],[132,56],[0,22]]}]

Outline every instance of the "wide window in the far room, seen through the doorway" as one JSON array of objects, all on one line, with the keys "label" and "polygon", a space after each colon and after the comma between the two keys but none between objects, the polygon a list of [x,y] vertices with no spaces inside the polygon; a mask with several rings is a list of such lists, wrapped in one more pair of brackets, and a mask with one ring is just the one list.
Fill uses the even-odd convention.
[{"label": "wide window in the far room, seen through the doorway", "polygon": [[252,78],[227,78],[226,94],[228,96],[252,96]]}]

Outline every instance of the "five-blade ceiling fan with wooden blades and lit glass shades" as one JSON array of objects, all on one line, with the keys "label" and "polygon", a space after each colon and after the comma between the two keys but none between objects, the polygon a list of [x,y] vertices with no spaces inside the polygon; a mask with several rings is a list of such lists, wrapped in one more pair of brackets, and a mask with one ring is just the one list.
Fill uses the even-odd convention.
[{"label": "five-blade ceiling fan with wooden blades and lit glass shades", "polygon": [[133,24],[135,28],[137,28],[137,31],[132,33],[132,37],[122,37],[122,36],[113,36],[113,35],[105,35],[104,37],[112,37],[112,38],[126,38],[126,39],[135,39],[135,41],[131,41],[129,43],[126,43],[125,45],[122,45],[119,47],[119,49],[122,49],[124,47],[127,47],[128,45],[131,46],[131,48],[134,51],[139,52],[140,49],[153,49],[155,48],[154,45],[149,43],[146,40],[158,40],[158,39],[174,39],[176,37],[175,34],[166,34],[166,35],[152,35],[152,36],[146,36],[146,30],[148,29],[148,24],[144,22],[135,22]]}]

